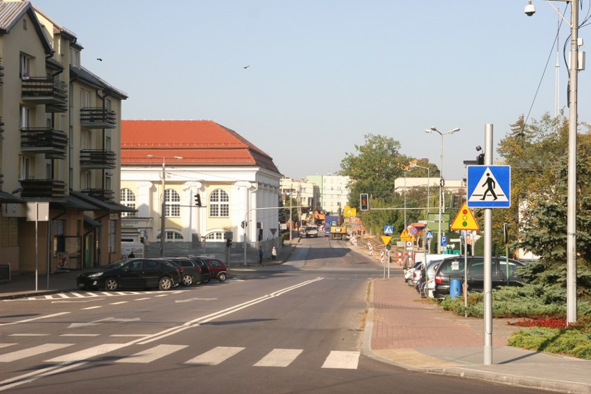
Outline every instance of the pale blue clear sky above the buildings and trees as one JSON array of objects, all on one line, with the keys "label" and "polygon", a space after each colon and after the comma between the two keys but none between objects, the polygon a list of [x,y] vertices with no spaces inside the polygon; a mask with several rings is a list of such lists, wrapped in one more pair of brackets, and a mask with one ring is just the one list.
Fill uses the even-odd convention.
[{"label": "pale blue clear sky above the buildings and trees", "polygon": [[[552,3],[565,12],[566,3]],[[582,22],[590,1],[581,3]],[[532,17],[526,0],[33,4],[78,37],[84,67],[128,94],[122,119],[210,119],[290,178],[339,171],[373,134],[437,166],[443,140],[443,177],[459,179],[463,160],[485,146],[486,124],[496,149],[520,116],[555,112],[559,17],[547,1],[533,0]],[[566,114],[568,35],[563,23],[558,100]],[[579,122],[591,123],[588,74],[579,72]],[[431,126],[461,130],[442,139],[425,132]]]}]

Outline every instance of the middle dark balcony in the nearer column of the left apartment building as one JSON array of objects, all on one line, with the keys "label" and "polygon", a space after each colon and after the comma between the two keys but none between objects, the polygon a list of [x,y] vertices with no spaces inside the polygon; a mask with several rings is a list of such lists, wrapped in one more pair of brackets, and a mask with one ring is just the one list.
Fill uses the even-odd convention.
[{"label": "middle dark balcony in the nearer column of the left apartment building", "polygon": [[68,137],[62,130],[44,127],[21,129],[21,150],[45,153],[47,159],[65,159]]}]

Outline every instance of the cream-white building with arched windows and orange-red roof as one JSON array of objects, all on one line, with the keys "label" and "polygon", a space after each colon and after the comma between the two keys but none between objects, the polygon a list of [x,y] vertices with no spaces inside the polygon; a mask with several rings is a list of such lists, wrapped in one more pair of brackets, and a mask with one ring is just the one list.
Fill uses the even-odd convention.
[{"label": "cream-white building with arched windows and orange-red roof", "polygon": [[160,244],[164,228],[166,256],[185,254],[173,243],[194,254],[230,233],[234,248],[279,246],[281,177],[272,157],[214,121],[123,120],[121,204],[137,213],[123,217],[121,239]]}]

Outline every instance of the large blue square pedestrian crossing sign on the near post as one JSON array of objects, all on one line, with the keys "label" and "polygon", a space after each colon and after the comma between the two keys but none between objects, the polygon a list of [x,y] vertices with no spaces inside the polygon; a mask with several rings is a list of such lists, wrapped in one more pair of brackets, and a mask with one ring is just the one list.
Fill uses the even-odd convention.
[{"label": "large blue square pedestrian crossing sign on the near post", "polygon": [[511,166],[468,166],[469,208],[511,207]]}]

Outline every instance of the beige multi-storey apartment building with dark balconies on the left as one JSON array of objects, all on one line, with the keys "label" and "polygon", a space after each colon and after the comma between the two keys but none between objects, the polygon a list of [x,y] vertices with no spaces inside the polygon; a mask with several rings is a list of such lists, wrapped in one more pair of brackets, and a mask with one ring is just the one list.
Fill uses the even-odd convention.
[{"label": "beige multi-storey apartment building with dark balconies on the left", "polygon": [[131,209],[114,191],[127,95],[83,67],[82,53],[32,3],[0,2],[0,264],[12,271],[121,257],[119,217]]}]

